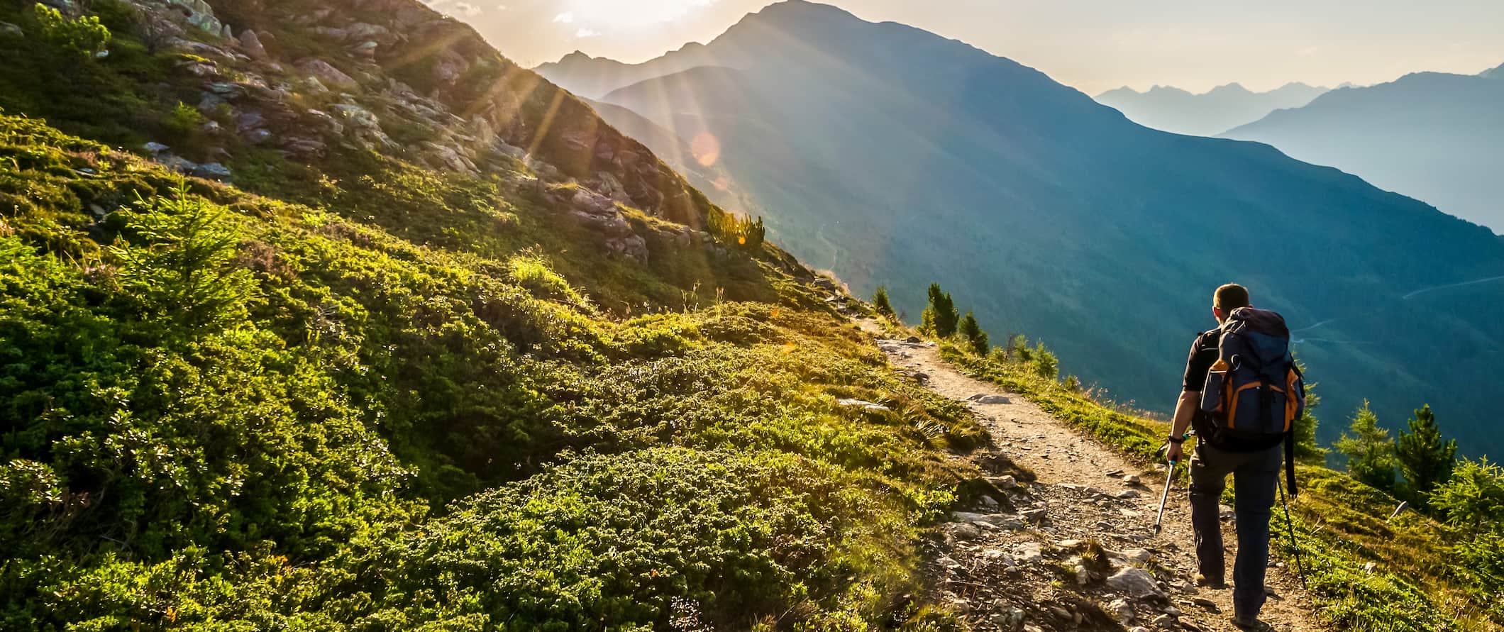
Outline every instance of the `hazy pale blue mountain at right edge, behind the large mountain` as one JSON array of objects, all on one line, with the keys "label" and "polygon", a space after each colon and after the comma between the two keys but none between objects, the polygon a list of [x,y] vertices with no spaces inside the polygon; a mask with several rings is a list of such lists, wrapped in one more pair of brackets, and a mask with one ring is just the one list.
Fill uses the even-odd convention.
[{"label": "hazy pale blue mountain at right edge, behind the large mountain", "polygon": [[1504,81],[1417,72],[1334,90],[1223,134],[1314,164],[1504,232]]}]

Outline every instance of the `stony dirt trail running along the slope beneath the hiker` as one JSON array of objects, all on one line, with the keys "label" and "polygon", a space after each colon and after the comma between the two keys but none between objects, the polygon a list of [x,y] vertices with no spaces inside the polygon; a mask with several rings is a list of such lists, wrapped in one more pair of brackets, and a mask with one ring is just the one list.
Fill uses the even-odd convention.
[{"label": "stony dirt trail running along the slope beneath the hiker", "polygon": [[[884,340],[875,322],[859,322],[878,336],[895,370],[920,373],[935,393],[969,402],[999,453],[979,454],[984,468],[1002,474],[1006,469],[997,463],[1011,460],[1036,476],[1008,498],[984,498],[952,515],[954,522],[928,542],[931,597],[952,603],[976,630],[1238,629],[1229,620],[1232,590],[1193,584],[1184,483],[1172,489],[1164,530],[1154,534],[1163,468],[1146,471],[1023,396],[961,375],[932,343]],[[1002,488],[1011,479],[993,482]],[[1229,581],[1236,543],[1230,518],[1224,507]],[[1107,551],[1110,567],[1081,561],[1090,540]],[[1155,582],[1145,585],[1136,567],[1151,569]],[[1293,572],[1272,566],[1266,584],[1263,621],[1280,632],[1322,629]]]}]

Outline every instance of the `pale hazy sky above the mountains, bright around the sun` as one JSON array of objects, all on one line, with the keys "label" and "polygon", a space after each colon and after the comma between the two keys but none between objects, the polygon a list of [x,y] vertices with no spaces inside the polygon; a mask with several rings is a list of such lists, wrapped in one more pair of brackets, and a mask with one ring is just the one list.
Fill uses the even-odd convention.
[{"label": "pale hazy sky above the mountains, bright around the sun", "polygon": [[[644,62],[770,0],[427,0],[525,66],[572,51]],[[830,0],[961,39],[1096,95],[1289,81],[1373,84],[1504,63],[1504,0]]]}]

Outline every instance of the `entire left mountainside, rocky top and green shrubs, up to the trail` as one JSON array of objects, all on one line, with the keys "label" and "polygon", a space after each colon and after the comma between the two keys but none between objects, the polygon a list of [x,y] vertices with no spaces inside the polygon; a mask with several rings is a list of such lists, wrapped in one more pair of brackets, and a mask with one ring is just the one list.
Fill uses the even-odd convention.
[{"label": "entire left mountainside, rocky top and green shrubs, up to the trail", "polygon": [[68,9],[0,5],[0,629],[926,606],[975,417],[588,105],[417,2]]}]

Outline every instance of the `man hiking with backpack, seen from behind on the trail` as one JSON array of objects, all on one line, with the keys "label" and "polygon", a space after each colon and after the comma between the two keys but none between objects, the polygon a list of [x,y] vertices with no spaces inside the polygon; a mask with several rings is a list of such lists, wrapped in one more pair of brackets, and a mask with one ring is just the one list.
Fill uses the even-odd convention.
[{"label": "man hiking with backpack, seen from behind on the trail", "polygon": [[1194,426],[1191,527],[1200,566],[1197,584],[1214,590],[1226,588],[1218,498],[1232,474],[1238,528],[1233,624],[1268,629],[1257,615],[1266,599],[1269,515],[1281,460],[1292,463],[1289,482],[1295,494],[1289,436],[1305,406],[1305,387],[1289,351],[1284,319],[1253,308],[1245,287],[1218,287],[1212,314],[1218,327],[1196,337],[1185,363],[1166,457],[1181,460],[1187,429]]}]

